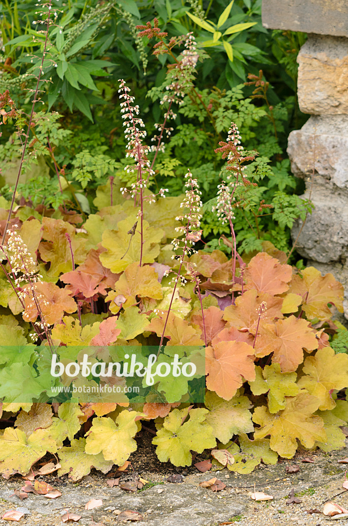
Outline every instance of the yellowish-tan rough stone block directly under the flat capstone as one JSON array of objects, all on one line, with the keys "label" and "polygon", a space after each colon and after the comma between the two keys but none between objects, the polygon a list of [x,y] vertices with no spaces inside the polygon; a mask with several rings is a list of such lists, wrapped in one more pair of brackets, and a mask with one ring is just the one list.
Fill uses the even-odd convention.
[{"label": "yellowish-tan rough stone block directly under the flat capstone", "polygon": [[309,35],[298,63],[301,112],[348,114],[348,38]]}]

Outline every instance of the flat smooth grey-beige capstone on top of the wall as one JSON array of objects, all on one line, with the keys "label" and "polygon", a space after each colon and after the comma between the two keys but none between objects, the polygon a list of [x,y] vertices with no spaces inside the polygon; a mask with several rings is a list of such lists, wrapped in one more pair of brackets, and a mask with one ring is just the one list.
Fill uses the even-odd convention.
[{"label": "flat smooth grey-beige capstone on top of the wall", "polygon": [[262,24],[272,29],[348,37],[348,2],[263,0]]}]

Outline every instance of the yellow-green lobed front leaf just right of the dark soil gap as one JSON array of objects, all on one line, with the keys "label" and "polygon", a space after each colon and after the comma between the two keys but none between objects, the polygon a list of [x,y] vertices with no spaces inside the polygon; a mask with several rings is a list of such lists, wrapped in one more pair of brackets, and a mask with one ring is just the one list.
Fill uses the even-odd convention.
[{"label": "yellow-green lobed front leaf just right of the dark soil gap", "polygon": [[202,453],[204,449],[216,446],[212,427],[204,422],[208,409],[191,409],[190,419],[182,423],[188,413],[188,409],[171,411],[152,440],[161,462],[170,460],[174,466],[191,466],[190,451]]}]

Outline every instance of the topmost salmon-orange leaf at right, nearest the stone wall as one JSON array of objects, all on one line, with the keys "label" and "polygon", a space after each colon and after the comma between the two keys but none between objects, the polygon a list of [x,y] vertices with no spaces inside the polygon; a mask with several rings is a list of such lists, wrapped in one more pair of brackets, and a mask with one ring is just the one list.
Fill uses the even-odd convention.
[{"label": "topmost salmon-orange leaf at right, nearest the stone wall", "polygon": [[247,282],[245,290],[255,288],[260,293],[282,294],[289,289],[288,282],[291,276],[291,265],[281,265],[278,259],[260,252],[252,258],[244,270],[244,279]]}]

